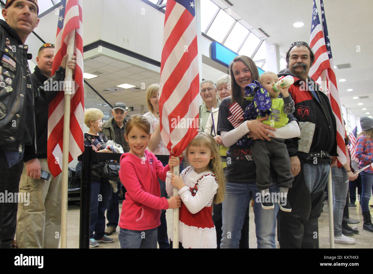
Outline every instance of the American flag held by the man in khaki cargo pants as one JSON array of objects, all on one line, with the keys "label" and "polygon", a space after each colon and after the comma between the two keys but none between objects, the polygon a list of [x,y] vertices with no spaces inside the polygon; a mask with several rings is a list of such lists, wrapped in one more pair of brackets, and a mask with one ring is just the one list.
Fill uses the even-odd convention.
[{"label": "American flag held by the man in khaki cargo pants", "polygon": [[[75,88],[71,95],[70,105],[69,163],[84,151],[82,0],[62,0],[60,2],[52,75],[60,66],[63,56],[66,55],[68,34],[71,31],[75,33],[76,69],[73,76]],[[53,176],[57,176],[62,171],[64,105],[64,92],[59,92],[49,104],[48,167]]]}]

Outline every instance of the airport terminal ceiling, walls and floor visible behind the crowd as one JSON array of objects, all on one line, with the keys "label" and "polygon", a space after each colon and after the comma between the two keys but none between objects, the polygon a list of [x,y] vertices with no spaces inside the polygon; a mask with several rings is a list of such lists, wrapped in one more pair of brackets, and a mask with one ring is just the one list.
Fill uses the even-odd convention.
[{"label": "airport terminal ceiling, walls and floor visible behind the crowd", "polygon": [[[320,5],[319,0],[316,0]],[[197,20],[200,82],[214,82],[229,75],[232,56],[251,57],[259,71],[279,72],[286,67],[286,51],[294,41],[310,42],[312,0],[191,0]],[[84,107],[98,108],[103,122],[111,119],[112,106],[125,103],[126,119],[148,112],[146,90],[160,82],[163,25],[167,0],[82,0],[84,43]],[[36,66],[38,48],[55,43],[59,0],[38,0],[40,23],[26,44]],[[4,5],[2,5],[4,7]],[[321,16],[320,7],[319,15]],[[373,115],[372,73],[373,2],[325,0],[324,9],[347,134],[360,117]],[[370,84],[369,84],[370,83]],[[200,105],[203,104],[199,98]],[[84,132],[88,127],[84,126]],[[75,168],[74,159],[69,167]],[[79,195],[69,195],[68,245],[79,248]],[[370,205],[373,199],[370,199]],[[324,202],[319,218],[320,248],[329,248],[329,206]],[[121,201],[119,205],[121,211]],[[256,248],[253,207],[250,205],[249,246]],[[370,207],[372,212],[372,207]],[[373,248],[372,232],[363,230],[359,201],[349,207],[350,218],[358,220],[355,245],[335,248]],[[172,230],[172,210],[167,210],[167,229]],[[119,229],[113,243],[98,248],[119,248]],[[276,247],[279,243],[276,241]]]}]

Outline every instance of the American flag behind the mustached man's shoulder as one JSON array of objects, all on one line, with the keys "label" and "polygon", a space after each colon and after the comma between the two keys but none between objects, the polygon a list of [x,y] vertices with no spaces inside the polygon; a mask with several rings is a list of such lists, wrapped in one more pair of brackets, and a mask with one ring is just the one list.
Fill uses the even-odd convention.
[{"label": "American flag behind the mustached man's shoulder", "polygon": [[322,0],[320,0],[320,6],[322,17],[321,23],[317,12],[316,0],[313,2],[310,47],[315,54],[315,61],[311,66],[309,74],[311,75],[311,78],[317,82],[322,81],[322,87],[325,89],[330,105],[332,106],[337,124],[337,153],[339,155],[337,160],[338,167],[340,167],[347,161],[344,142],[345,125],[342,119],[341,102],[337,90],[332,49],[330,47]]}]

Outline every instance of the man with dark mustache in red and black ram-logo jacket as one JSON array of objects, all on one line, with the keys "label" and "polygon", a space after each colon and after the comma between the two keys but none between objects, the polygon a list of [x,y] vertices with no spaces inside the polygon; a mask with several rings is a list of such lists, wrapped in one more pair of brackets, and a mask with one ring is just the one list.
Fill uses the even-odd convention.
[{"label": "man with dark mustache in red and black ram-logo jacket", "polygon": [[[278,76],[291,75],[289,92],[295,103],[294,115],[300,139],[285,141],[294,182],[288,192],[291,212],[279,212],[281,248],[319,248],[318,218],[330,161],[337,156],[336,122],[327,96],[308,76],[314,54],[306,42],[294,42],[286,53],[286,69]],[[332,157],[333,156],[333,157]]]}]

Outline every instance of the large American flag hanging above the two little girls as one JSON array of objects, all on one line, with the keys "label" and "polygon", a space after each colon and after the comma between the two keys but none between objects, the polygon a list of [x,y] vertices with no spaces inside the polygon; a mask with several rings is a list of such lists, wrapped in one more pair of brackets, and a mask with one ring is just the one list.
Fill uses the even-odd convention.
[{"label": "large American flag hanging above the two little girls", "polygon": [[160,75],[160,130],[164,144],[180,155],[197,135],[199,73],[194,0],[168,0]]}]

